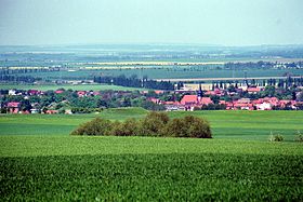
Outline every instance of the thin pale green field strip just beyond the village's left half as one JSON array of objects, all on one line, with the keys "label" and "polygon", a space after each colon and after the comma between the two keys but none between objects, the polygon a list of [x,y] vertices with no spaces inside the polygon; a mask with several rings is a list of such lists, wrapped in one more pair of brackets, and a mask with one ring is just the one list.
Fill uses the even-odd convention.
[{"label": "thin pale green field strip just beyond the village's left half", "polygon": [[126,87],[119,85],[106,85],[106,84],[0,84],[0,89],[2,90],[10,90],[10,89],[17,89],[17,90],[39,90],[39,91],[48,91],[48,90],[57,90],[57,89],[65,89],[65,90],[74,90],[74,91],[105,91],[105,90],[113,90],[113,91],[144,91],[146,89],[136,89],[136,87]]}]

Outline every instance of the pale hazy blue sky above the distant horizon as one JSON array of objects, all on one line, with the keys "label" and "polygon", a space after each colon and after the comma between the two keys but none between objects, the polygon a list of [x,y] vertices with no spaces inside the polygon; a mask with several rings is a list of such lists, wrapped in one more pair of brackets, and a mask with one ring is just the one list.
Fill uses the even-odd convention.
[{"label": "pale hazy blue sky above the distant horizon", "polygon": [[0,45],[303,44],[303,0],[0,0]]}]

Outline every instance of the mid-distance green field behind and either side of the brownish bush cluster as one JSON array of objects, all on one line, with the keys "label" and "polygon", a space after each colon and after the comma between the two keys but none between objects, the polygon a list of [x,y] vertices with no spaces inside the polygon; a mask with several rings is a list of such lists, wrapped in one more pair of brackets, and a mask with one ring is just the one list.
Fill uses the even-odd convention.
[{"label": "mid-distance green field behind and either side of the brownish bush cluster", "polygon": [[[94,117],[110,120],[143,118],[141,108],[107,109],[98,115],[2,115],[0,135],[68,135],[77,125]],[[293,140],[303,131],[302,111],[177,111],[171,118],[194,115],[210,121],[215,138],[267,140],[271,132]]]}]

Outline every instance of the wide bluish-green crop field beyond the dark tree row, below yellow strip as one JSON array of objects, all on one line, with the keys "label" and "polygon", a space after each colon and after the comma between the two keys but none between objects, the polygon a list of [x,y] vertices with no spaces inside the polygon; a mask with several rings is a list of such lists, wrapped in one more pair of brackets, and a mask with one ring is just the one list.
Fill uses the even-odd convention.
[{"label": "wide bluish-green crop field beyond the dark tree row, below yellow strip", "polygon": [[[94,76],[120,76],[130,77],[136,75],[139,78],[147,76],[149,79],[195,79],[195,78],[245,78],[247,77],[282,77],[286,72],[294,76],[302,76],[303,69],[248,69],[248,70],[218,70],[203,67],[181,66],[176,68],[156,67],[143,68],[142,70],[130,69],[83,69],[77,71],[51,71],[51,72],[31,72],[29,76],[40,77],[44,79],[69,79],[83,80],[93,79]],[[24,76],[21,73],[19,76]]]}]

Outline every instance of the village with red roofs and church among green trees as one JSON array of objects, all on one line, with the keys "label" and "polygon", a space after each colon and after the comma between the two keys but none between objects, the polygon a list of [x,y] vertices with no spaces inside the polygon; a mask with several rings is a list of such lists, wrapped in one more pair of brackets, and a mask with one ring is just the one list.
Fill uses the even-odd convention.
[{"label": "village with red roofs and church among green trees", "polygon": [[174,91],[0,90],[1,113],[87,113],[105,108],[148,110],[302,110],[301,87],[184,85]]}]

